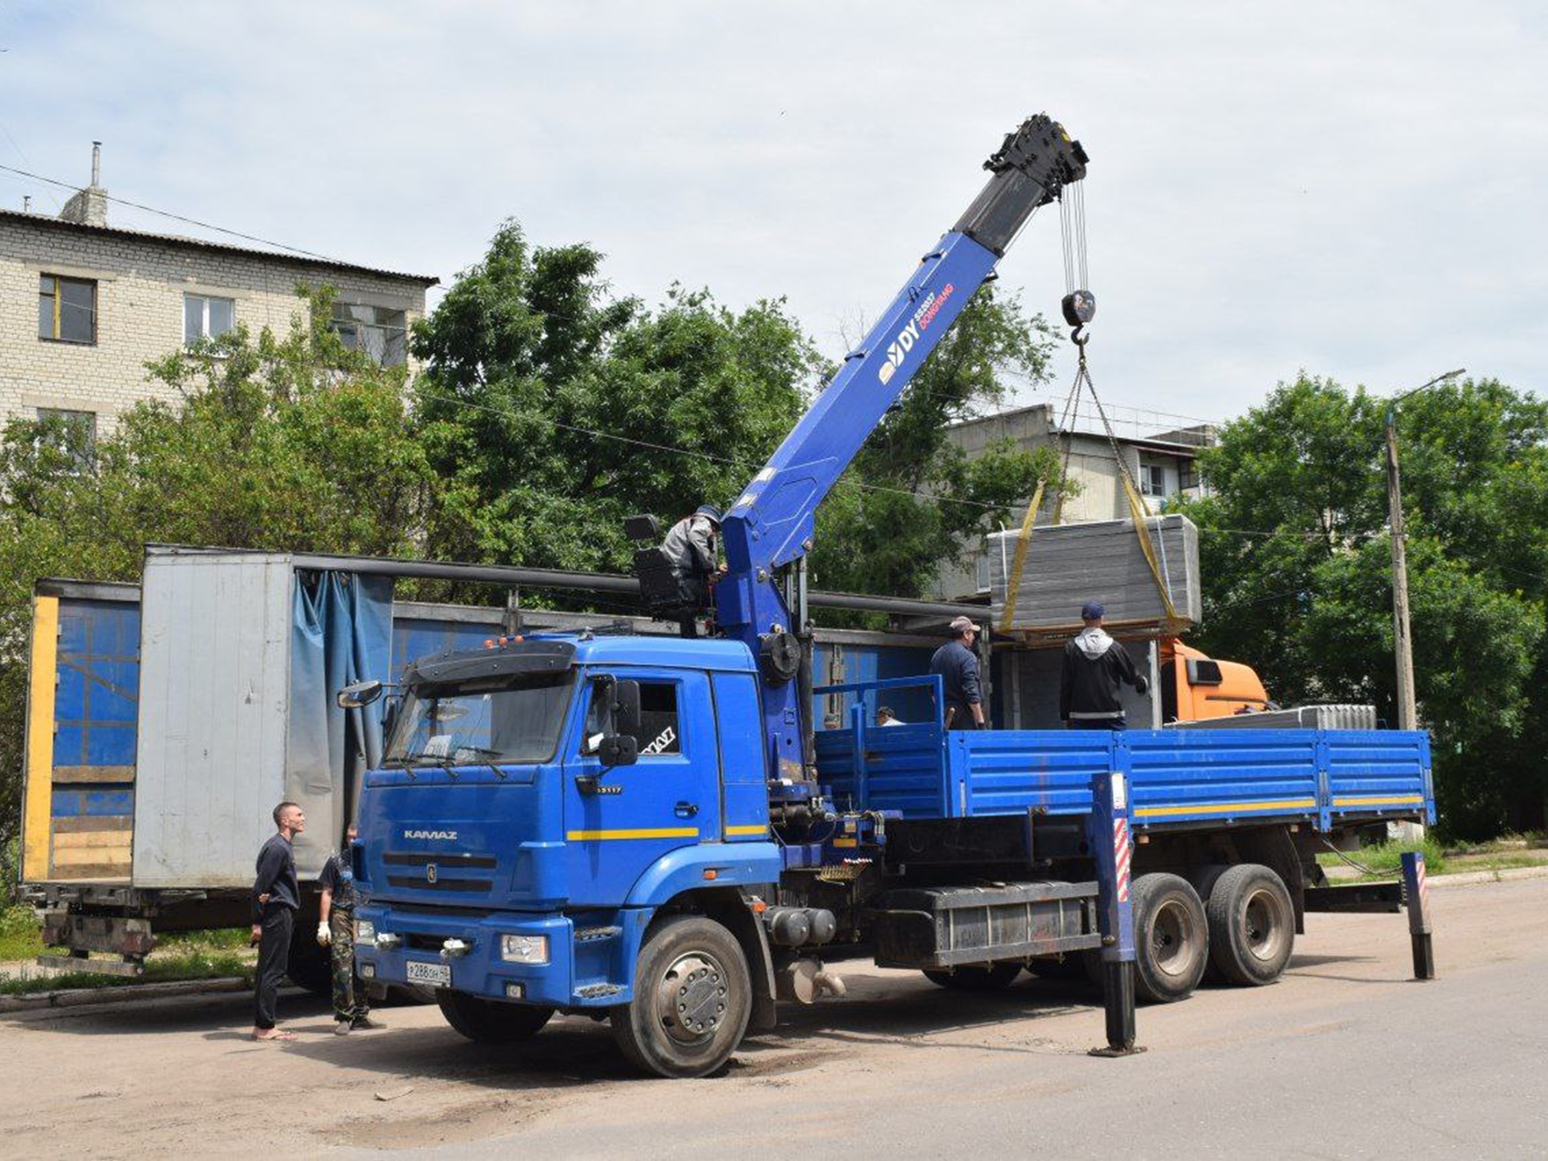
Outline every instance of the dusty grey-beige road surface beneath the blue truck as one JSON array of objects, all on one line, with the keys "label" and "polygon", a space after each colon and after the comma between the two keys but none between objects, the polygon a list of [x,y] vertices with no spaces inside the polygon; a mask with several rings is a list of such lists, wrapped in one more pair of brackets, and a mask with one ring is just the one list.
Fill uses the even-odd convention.
[{"label": "dusty grey-beige road surface beneath the blue truck", "polygon": [[[237,997],[0,1017],[11,1156],[1542,1156],[1548,879],[1432,892],[1441,978],[1399,915],[1313,915],[1285,978],[1141,1008],[1104,1060],[1101,1009],[1025,978],[995,997],[853,966],[707,1081],[632,1076],[607,1028],[556,1020],[481,1050],[433,1008],[381,1033],[243,1037]],[[390,1098],[390,1099],[379,1099]]]}]

